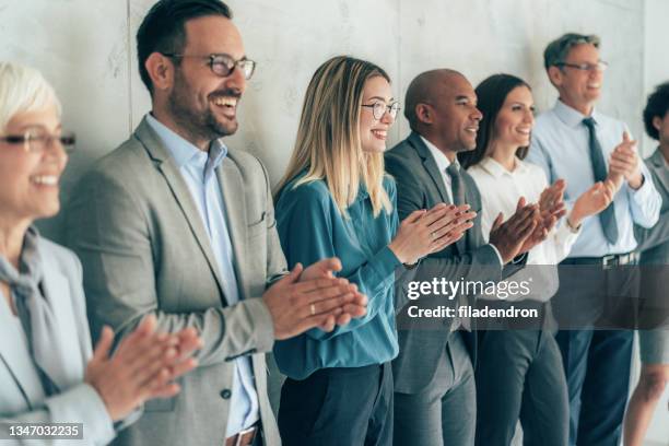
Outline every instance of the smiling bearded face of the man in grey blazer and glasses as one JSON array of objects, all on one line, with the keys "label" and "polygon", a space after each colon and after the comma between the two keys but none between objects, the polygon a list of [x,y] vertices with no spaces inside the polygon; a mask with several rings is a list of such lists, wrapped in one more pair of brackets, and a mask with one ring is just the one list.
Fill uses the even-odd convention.
[{"label": "smiling bearded face of the man in grey blazer and glasses", "polygon": [[183,55],[203,57],[185,57],[175,64],[166,106],[179,133],[196,145],[208,144],[237,130],[237,103],[246,90],[239,68],[220,77],[212,72],[208,56],[223,54],[239,60],[245,56],[244,45],[237,27],[223,16],[193,19],[185,28]]}]

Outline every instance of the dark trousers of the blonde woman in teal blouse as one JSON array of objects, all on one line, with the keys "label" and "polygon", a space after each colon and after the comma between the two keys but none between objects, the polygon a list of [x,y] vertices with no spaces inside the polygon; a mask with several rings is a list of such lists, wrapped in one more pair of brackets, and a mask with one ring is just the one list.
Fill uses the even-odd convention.
[{"label": "dark trousers of the blonde woman in teal blouse", "polygon": [[390,446],[392,368],[322,368],[281,388],[279,432],[284,446]]}]

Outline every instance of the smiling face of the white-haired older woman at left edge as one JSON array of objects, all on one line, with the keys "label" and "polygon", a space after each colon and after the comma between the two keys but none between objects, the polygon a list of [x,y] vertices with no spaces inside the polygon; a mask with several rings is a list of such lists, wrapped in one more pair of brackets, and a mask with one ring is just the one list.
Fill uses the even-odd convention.
[{"label": "smiling face of the white-haired older woman at left edge", "polygon": [[[56,105],[14,116],[2,136],[23,136],[26,131],[59,136],[61,126]],[[33,221],[58,213],[58,185],[68,156],[58,140],[46,145],[37,153],[30,151],[25,143],[0,141],[0,214],[3,220]]]}]

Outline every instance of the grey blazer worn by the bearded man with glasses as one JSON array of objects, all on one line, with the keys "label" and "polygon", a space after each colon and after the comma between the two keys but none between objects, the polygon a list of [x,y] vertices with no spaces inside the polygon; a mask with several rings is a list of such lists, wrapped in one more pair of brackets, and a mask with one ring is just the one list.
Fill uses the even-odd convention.
[{"label": "grey blazer worn by the bearded man with glasses", "polygon": [[285,273],[269,179],[260,161],[233,150],[216,175],[240,289],[233,306],[197,204],[145,120],[94,165],[70,202],[67,239],[84,266],[92,332],[108,324],[127,333],[153,313],[161,329],[195,327],[204,342],[199,367],[180,379],[181,392],[148,402],[115,444],[223,444],[239,355],[253,359],[266,444],[281,443],[267,395],[273,325],[259,298]]}]

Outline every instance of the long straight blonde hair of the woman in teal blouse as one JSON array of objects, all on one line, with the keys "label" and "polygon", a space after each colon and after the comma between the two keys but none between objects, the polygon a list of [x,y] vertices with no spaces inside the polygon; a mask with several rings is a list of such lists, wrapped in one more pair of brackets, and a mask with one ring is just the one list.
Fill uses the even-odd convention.
[{"label": "long straight blonde hair of the woman in teal blouse", "polygon": [[306,171],[293,187],[324,180],[344,216],[361,185],[369,193],[375,218],[382,209],[387,213],[392,210],[383,187],[384,154],[364,152],[360,139],[363,90],[365,82],[377,75],[390,82],[379,67],[348,56],[333,57],[316,70],[304,98],[287,172],[277,193]]}]

